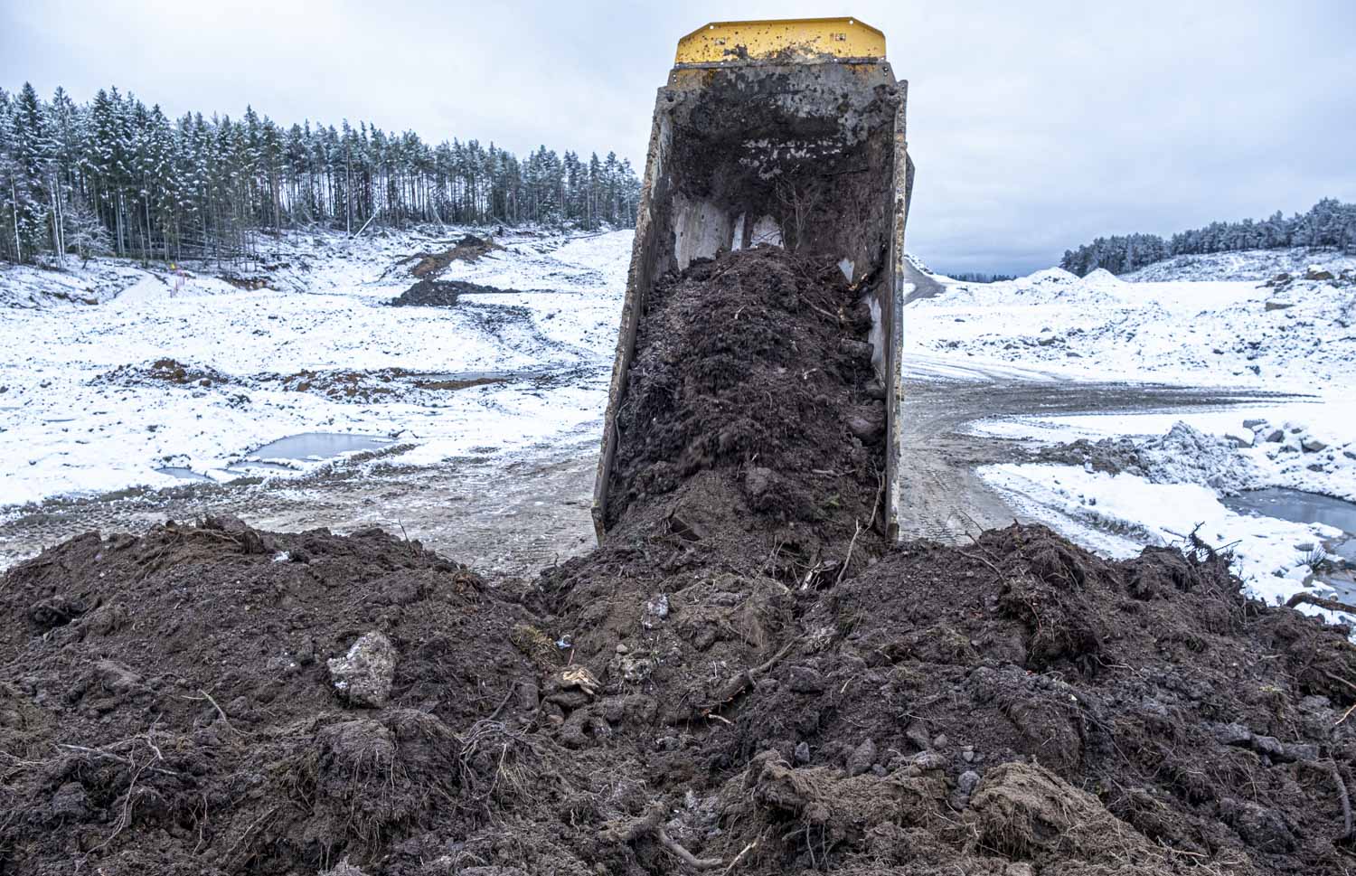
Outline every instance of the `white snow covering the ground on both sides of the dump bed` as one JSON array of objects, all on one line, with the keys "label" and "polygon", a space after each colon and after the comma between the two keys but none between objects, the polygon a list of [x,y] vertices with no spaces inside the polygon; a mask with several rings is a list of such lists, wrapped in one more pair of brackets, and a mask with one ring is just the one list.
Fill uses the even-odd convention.
[{"label": "white snow covering the ground on both sides of the dump bed", "polygon": [[[184,483],[156,471],[164,466],[214,480],[258,473],[229,466],[304,433],[389,438],[408,465],[597,434],[631,232],[507,233],[503,250],[454,262],[442,278],[511,294],[388,306],[412,282],[395,266],[461,232],[289,233],[260,239],[254,263],[226,271],[118,259],[0,268],[0,517],[57,495]],[[997,283],[929,273],[945,290],[906,309],[906,376],[1237,389],[1234,407],[970,429],[1036,447],[1128,439],[1135,471],[1003,464],[979,473],[1021,513],[1113,556],[1180,544],[1200,525],[1205,541],[1233,545],[1256,595],[1284,599],[1304,586],[1304,545],[1336,530],[1237,514],[1220,498],[1271,485],[1356,500],[1356,289],[1258,283],[1321,260],[1313,251],[1227,254],[1121,278],[1050,268]],[[264,277],[267,289],[241,287]],[[191,374],[155,378],[163,359]],[[542,374],[567,378],[545,388]],[[324,389],[346,376],[354,395]],[[435,391],[419,376],[498,382]],[[325,464],[287,460],[290,471],[270,476]]]}]

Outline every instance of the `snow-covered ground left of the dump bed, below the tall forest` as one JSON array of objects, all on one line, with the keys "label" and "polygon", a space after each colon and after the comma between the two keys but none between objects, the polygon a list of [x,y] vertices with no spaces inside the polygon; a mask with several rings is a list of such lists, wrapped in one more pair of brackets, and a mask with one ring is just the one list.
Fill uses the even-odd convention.
[{"label": "snow-covered ground left of the dump bed, below the tall forest", "polygon": [[[419,465],[599,420],[631,232],[511,235],[442,277],[533,292],[388,305],[414,282],[392,270],[401,258],[458,237],[266,239],[256,264],[228,271],[267,277],[256,290],[114,259],[0,267],[0,507],[183,483],[161,468],[229,480],[304,433],[391,438]],[[568,369],[579,377],[541,389]],[[452,389],[473,378],[498,382]]]}]

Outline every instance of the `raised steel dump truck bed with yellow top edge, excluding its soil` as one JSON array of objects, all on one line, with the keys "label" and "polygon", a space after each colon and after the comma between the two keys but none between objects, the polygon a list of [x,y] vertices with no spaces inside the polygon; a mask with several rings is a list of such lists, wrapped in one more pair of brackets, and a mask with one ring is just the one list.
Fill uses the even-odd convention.
[{"label": "raised steel dump truck bed with yellow top edge, excluding its soil", "polygon": [[[871,53],[862,57],[858,53]],[[856,19],[711,24],[683,38],[654,125],[613,363],[593,518],[605,536],[636,331],[656,278],[723,250],[830,256],[866,298],[885,386],[885,532],[898,534],[907,83]],[[872,57],[875,56],[875,57]]]}]

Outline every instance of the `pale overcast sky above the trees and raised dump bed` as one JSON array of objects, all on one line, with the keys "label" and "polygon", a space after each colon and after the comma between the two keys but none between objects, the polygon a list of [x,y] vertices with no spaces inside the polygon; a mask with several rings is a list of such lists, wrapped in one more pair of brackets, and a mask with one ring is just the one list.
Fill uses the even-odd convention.
[{"label": "pale overcast sky above the trees and raised dump bed", "polygon": [[682,34],[835,14],[883,30],[910,81],[909,248],[936,267],[1026,273],[1096,235],[1356,201],[1352,0],[0,0],[0,85],[616,149],[639,170]]}]

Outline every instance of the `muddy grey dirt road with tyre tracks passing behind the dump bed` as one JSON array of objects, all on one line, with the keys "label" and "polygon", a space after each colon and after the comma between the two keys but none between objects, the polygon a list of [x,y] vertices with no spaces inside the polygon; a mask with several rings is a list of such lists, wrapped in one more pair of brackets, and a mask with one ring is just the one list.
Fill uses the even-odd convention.
[{"label": "muddy grey dirt road with tyre tracks passing behind the dump bed", "polygon": [[[967,434],[987,416],[1200,410],[1239,401],[1237,389],[1014,377],[1012,372],[906,366],[902,477],[904,537],[964,541],[1014,515],[975,466],[1022,457],[1021,442]],[[601,424],[521,454],[465,456],[408,466],[399,456],[336,462],[316,475],[263,484],[203,484],[49,500],[0,522],[0,567],[92,529],[138,533],[164,519],[233,514],[274,530],[380,526],[418,538],[484,572],[533,575],[593,545],[597,431]]]}]

